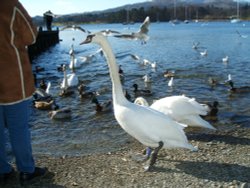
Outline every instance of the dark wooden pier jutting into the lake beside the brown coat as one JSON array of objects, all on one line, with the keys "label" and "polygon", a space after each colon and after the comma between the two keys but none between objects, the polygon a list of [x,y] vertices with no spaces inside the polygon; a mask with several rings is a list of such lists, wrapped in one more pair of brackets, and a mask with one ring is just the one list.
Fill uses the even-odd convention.
[{"label": "dark wooden pier jutting into the lake beside the brown coat", "polygon": [[59,30],[43,31],[39,30],[36,43],[28,46],[30,60],[49,49],[51,46],[59,43]]}]

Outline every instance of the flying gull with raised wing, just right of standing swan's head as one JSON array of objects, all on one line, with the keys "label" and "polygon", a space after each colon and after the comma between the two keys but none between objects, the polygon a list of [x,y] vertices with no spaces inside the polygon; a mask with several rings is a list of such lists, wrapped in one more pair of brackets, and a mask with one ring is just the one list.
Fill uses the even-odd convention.
[{"label": "flying gull with raised wing, just right of standing swan's head", "polygon": [[146,44],[146,41],[149,39],[148,36],[148,27],[150,24],[150,18],[147,16],[140,26],[139,31],[133,32],[131,34],[121,34],[121,35],[114,35],[114,37],[119,37],[119,38],[125,38],[125,39],[131,39],[131,40],[141,40],[142,44]]}]

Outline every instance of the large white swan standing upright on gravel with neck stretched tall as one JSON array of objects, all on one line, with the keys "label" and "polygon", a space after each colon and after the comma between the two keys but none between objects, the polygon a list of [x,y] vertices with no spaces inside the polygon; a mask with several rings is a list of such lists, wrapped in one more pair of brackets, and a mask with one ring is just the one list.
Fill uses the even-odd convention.
[{"label": "large white swan standing upright on gravel with neck stretched tall", "polygon": [[114,115],[120,126],[142,144],[156,148],[152,154],[149,166],[156,162],[161,148],[187,148],[197,150],[190,143],[183,131],[184,125],[173,121],[169,116],[149,107],[129,102],[123,93],[119,79],[118,66],[112,48],[107,38],[99,33],[89,35],[84,42],[99,44],[105,54],[112,81],[112,97]]}]

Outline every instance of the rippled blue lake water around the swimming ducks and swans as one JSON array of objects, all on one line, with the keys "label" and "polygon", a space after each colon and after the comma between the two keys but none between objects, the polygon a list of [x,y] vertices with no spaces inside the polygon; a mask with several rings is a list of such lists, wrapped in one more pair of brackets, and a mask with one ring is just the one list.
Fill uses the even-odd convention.
[{"label": "rippled blue lake water around the swimming ducks and swans", "polygon": [[[140,24],[99,24],[83,25],[90,31],[113,29],[121,32],[137,31]],[[236,30],[248,38],[241,38]],[[122,65],[125,74],[124,88],[132,94],[132,85],[137,83],[144,88],[142,77],[146,73],[152,76],[153,95],[146,97],[150,102],[164,96],[185,94],[195,97],[199,102],[219,101],[218,121],[212,124],[220,129],[227,129],[240,124],[249,127],[250,94],[229,95],[228,87],[221,84],[212,88],[208,77],[223,83],[228,74],[232,75],[236,87],[250,85],[250,23],[231,24],[230,22],[189,23],[172,26],[170,23],[151,23],[150,40],[146,45],[139,41],[127,41],[110,37],[109,40],[117,56],[117,63]],[[74,40],[72,40],[74,38]],[[60,32],[62,41],[40,55],[33,62],[45,71],[37,74],[38,81],[45,78],[52,84],[51,94],[59,106],[72,108],[70,120],[55,121],[48,117],[47,111],[32,109],[31,129],[33,150],[36,154],[87,155],[114,151],[126,145],[130,136],[123,131],[113,112],[97,114],[90,99],[81,100],[77,90],[71,97],[58,96],[63,73],[57,66],[70,62],[69,50],[74,44],[76,58],[94,53],[99,47],[95,44],[79,45],[86,38],[80,31],[65,30]],[[193,42],[199,42],[199,49],[192,49]],[[202,57],[199,51],[207,49],[208,55]],[[129,54],[157,62],[157,69],[139,65]],[[229,56],[229,62],[222,58]],[[168,78],[163,77],[165,70],[174,70],[174,87],[168,87]],[[69,70],[68,70],[69,71]],[[100,101],[111,99],[111,82],[108,67],[101,55],[85,63],[76,70],[89,90],[102,91]],[[206,132],[207,130],[201,130]]]}]

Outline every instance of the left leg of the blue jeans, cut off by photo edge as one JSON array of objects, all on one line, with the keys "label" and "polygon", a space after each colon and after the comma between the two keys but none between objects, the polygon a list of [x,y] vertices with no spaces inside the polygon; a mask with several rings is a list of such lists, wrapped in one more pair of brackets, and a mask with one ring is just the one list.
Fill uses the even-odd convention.
[{"label": "left leg of the blue jeans, cut off by photo edge", "polygon": [[11,166],[7,162],[5,146],[6,146],[6,135],[5,131],[5,121],[3,106],[0,105],[0,174],[8,173],[11,171]]}]

